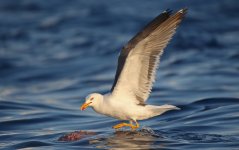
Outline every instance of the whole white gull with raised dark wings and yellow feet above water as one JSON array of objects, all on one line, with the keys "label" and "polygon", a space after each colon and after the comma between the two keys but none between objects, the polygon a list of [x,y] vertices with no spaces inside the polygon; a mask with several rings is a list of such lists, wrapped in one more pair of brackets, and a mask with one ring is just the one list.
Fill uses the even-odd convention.
[{"label": "whole white gull with raised dark wings and yellow feet above water", "polygon": [[172,14],[166,10],[136,34],[121,50],[111,91],[107,94],[92,93],[85,98],[81,110],[92,107],[97,113],[129,123],[120,123],[114,129],[140,127],[138,120],[149,119],[169,110],[180,108],[164,104],[148,105],[148,99],[160,56],[176,32],[187,9]]}]

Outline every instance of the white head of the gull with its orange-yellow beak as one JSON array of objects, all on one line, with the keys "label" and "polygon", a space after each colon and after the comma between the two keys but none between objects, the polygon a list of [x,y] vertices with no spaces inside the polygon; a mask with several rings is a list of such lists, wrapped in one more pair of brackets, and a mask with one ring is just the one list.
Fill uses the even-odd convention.
[{"label": "white head of the gull with its orange-yellow beak", "polygon": [[103,100],[103,95],[99,93],[92,93],[86,96],[85,103],[81,106],[81,110],[85,110],[87,107],[96,107]]}]

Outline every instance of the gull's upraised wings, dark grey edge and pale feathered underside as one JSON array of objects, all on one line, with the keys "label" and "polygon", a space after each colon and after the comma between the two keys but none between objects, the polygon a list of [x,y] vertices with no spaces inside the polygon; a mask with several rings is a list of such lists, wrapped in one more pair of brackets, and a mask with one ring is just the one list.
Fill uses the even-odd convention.
[{"label": "gull's upraised wings, dark grey edge and pale feathered underside", "polygon": [[185,14],[186,9],[173,15],[163,12],[124,46],[112,94],[133,96],[137,104],[144,104],[155,81],[160,56]]}]

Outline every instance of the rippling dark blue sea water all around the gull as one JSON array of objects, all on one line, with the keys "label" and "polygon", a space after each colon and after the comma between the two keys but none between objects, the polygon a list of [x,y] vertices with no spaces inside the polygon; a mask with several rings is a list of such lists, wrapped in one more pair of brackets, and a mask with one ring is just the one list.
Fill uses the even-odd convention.
[{"label": "rippling dark blue sea water all around the gull", "polygon": [[[81,112],[87,94],[110,89],[123,44],[183,7],[148,101],[182,110],[141,121],[136,133]],[[0,148],[239,149],[238,14],[238,0],[1,0]],[[57,141],[76,130],[97,135]]]}]

